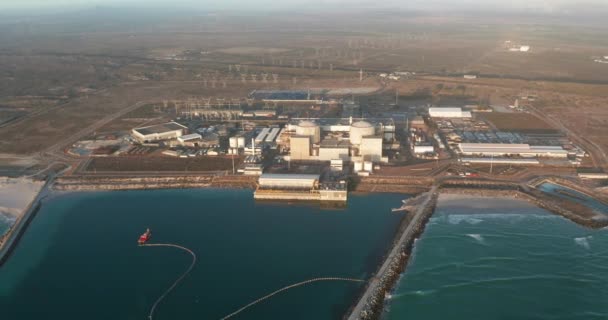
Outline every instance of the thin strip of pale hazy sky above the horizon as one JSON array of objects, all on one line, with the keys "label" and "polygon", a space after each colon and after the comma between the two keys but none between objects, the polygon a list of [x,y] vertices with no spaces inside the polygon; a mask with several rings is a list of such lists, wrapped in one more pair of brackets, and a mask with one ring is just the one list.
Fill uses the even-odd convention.
[{"label": "thin strip of pale hazy sky above the horizon", "polygon": [[547,12],[606,7],[608,0],[0,0],[0,8],[77,8],[92,5],[177,6],[198,9],[288,9],[295,7],[400,7],[404,9],[510,8]]}]

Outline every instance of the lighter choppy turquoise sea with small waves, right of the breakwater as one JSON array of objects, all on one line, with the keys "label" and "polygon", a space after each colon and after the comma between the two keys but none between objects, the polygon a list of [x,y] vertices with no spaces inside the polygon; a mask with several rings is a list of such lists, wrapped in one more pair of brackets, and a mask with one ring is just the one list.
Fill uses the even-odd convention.
[{"label": "lighter choppy turquoise sea with small waves, right of the breakwater", "polygon": [[385,318],[608,319],[608,230],[508,199],[442,201]]}]

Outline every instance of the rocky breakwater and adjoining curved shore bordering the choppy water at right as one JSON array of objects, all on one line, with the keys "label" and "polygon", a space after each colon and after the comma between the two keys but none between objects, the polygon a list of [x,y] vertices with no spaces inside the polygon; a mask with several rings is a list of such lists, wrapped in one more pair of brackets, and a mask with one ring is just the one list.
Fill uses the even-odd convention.
[{"label": "rocky breakwater and adjoining curved shore bordering the choppy water at right", "polygon": [[[543,181],[552,182],[551,179],[544,179]],[[344,319],[368,320],[382,318],[386,304],[386,296],[394,290],[399,278],[406,270],[415,241],[424,232],[427,222],[434,214],[439,195],[462,195],[523,200],[583,227],[592,229],[603,229],[608,227],[608,216],[606,215],[596,213],[589,215],[590,212],[593,212],[589,207],[574,204],[571,201],[566,201],[545,194],[540,190],[527,188],[526,186],[519,184],[471,180],[461,180],[457,181],[457,183],[440,183],[426,193],[425,197],[427,197],[427,199],[425,201],[414,204],[415,209],[406,215],[406,217],[413,216],[411,219],[404,218],[402,220],[399,231],[395,236],[396,240],[388,249],[388,252],[390,253],[386,256],[381,267],[375,273],[375,276],[368,281],[364,294],[362,294],[354,303],[354,306],[349,309],[344,316]],[[420,196],[424,196],[424,194],[409,200],[415,201],[414,199],[419,198]],[[411,205],[411,203],[406,202],[406,204],[404,204],[404,206],[408,205]],[[581,211],[572,210],[573,208]]]}]

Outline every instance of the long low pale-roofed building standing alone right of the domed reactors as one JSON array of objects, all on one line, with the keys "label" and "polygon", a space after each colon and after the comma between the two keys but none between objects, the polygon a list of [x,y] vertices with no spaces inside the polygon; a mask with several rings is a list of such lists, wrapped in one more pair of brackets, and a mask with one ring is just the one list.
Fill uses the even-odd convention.
[{"label": "long low pale-roofed building standing alone right of the domed reactors", "polygon": [[458,148],[463,155],[475,156],[568,157],[568,151],[559,146],[531,146],[514,143],[459,143]]}]

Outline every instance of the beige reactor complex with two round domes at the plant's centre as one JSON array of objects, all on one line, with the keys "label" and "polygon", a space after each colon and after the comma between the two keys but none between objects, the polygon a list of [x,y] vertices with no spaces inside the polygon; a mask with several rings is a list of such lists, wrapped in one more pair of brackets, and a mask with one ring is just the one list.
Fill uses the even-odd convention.
[{"label": "beige reactor complex with two round domes at the plant's centre", "polygon": [[390,119],[295,119],[286,132],[291,160],[388,162],[383,145],[395,139]]}]

